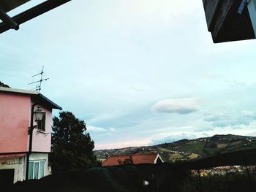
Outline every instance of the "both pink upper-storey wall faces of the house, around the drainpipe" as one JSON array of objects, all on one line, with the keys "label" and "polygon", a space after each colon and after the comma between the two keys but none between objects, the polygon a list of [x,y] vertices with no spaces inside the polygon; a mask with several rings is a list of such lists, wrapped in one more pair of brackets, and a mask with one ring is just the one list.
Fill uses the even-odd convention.
[{"label": "both pink upper-storey wall faces of the house, around the drainpipe", "polygon": [[[29,150],[28,128],[32,104],[29,94],[0,93],[0,153]],[[34,107],[36,109],[37,106]],[[45,133],[34,129],[32,151],[50,153],[52,111],[46,107],[42,107],[42,110],[46,112]]]}]

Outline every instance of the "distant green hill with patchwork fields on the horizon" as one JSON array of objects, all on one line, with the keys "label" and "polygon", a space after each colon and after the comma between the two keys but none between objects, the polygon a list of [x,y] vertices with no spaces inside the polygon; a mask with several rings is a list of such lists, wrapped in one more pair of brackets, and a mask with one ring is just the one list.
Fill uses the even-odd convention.
[{"label": "distant green hill with patchwork fields on the horizon", "polygon": [[189,161],[204,158],[217,153],[246,150],[256,147],[256,137],[238,135],[214,135],[199,139],[182,139],[177,142],[163,143],[145,147],[125,147],[113,150],[95,150],[94,155],[104,160],[110,155],[140,153],[159,153],[165,162]]}]

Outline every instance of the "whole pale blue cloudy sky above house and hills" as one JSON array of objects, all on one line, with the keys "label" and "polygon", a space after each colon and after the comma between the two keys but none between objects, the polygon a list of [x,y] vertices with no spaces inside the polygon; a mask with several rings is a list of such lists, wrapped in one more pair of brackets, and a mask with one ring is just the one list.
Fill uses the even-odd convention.
[{"label": "whole pale blue cloudy sky above house and hills", "polygon": [[44,66],[41,93],[95,149],[256,136],[255,48],[214,44],[202,1],[75,0],[0,34],[0,81],[34,88]]}]

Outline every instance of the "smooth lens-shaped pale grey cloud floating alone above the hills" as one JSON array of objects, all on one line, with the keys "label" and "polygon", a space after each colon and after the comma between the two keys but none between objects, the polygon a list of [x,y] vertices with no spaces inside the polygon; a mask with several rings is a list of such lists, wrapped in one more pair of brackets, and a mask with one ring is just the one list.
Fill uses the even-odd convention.
[{"label": "smooth lens-shaped pale grey cloud floating alone above the hills", "polygon": [[152,112],[166,112],[188,114],[199,110],[197,106],[197,99],[184,98],[184,99],[164,99],[158,101],[151,107]]}]

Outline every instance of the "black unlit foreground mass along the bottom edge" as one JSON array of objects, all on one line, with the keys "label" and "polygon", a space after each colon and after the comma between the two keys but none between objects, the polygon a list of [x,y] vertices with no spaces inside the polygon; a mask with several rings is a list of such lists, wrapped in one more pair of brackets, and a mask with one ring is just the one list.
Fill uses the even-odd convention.
[{"label": "black unlit foreground mass along the bottom edge", "polygon": [[255,191],[255,171],[209,174],[198,177],[170,164],[88,167],[53,174],[41,180],[16,183],[8,192],[99,192],[99,191]]}]

